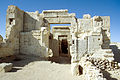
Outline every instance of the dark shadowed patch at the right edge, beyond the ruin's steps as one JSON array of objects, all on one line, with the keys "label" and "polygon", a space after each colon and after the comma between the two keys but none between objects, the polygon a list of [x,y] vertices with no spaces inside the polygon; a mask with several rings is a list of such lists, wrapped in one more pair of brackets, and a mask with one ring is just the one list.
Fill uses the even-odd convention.
[{"label": "dark shadowed patch at the right edge, beyond the ruin's steps", "polygon": [[113,51],[115,61],[120,63],[120,49],[116,45],[110,45],[110,49]]}]

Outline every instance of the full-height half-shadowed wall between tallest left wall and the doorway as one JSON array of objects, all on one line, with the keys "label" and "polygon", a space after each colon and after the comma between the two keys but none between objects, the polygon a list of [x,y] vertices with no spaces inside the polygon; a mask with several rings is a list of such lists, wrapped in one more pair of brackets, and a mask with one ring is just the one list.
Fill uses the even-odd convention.
[{"label": "full-height half-shadowed wall between tallest left wall and the doorway", "polygon": [[48,57],[49,31],[43,15],[24,12],[23,31],[20,33],[20,53]]}]

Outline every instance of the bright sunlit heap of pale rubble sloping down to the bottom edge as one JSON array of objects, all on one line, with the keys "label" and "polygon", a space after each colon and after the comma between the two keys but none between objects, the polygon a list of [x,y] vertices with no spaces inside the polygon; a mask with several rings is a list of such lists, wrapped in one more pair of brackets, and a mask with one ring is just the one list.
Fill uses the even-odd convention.
[{"label": "bright sunlit heap of pale rubble sloping down to the bottom edge", "polygon": [[97,68],[91,61],[87,60],[87,56],[81,58],[79,65],[83,68],[85,80],[106,80],[101,69]]}]

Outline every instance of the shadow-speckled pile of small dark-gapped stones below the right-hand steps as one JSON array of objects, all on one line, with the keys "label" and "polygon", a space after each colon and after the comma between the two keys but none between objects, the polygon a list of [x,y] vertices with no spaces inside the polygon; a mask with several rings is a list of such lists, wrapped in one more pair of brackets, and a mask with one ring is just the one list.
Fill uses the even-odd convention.
[{"label": "shadow-speckled pile of small dark-gapped stones below the right-hand steps", "polygon": [[97,68],[101,69],[101,70],[115,70],[115,69],[119,69],[119,65],[117,62],[110,62],[107,59],[95,59],[95,58],[87,58],[87,61],[90,61],[94,66],[96,66]]}]

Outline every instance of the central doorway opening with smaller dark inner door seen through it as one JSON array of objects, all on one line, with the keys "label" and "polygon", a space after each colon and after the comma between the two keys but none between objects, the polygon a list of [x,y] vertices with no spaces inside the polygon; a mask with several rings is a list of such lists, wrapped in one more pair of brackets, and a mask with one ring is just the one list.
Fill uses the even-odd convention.
[{"label": "central doorway opening with smaller dark inner door seen through it", "polygon": [[52,26],[49,46],[53,52],[53,56],[49,60],[69,64],[71,61],[70,40],[70,26]]}]

